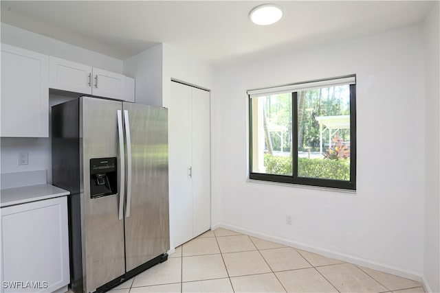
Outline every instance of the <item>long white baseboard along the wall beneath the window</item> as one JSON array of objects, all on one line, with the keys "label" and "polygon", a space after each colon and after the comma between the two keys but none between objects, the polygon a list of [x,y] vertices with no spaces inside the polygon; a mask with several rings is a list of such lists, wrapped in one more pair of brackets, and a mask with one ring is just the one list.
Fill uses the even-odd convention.
[{"label": "long white baseboard along the wall beneath the window", "polygon": [[272,242],[276,242],[279,244],[283,244],[285,246],[290,246],[293,248],[298,248],[301,250],[306,250],[309,251],[311,253],[318,253],[320,255],[324,255],[325,257],[330,257],[332,259],[340,259],[342,261],[347,261],[349,263],[354,263],[356,265],[359,266],[364,266],[366,268],[371,268],[373,270],[380,270],[381,272],[388,272],[388,274],[395,274],[399,277],[404,277],[406,279],[411,279],[414,281],[418,281],[423,283],[423,285],[425,286],[425,291],[426,292],[431,292],[429,289],[429,285],[426,282],[426,279],[423,277],[422,274],[419,274],[417,272],[413,272],[410,270],[404,270],[402,268],[397,268],[395,266],[388,266],[385,263],[378,263],[377,261],[371,261],[369,259],[363,259],[361,257],[355,257],[353,255],[346,255],[344,253],[338,253],[337,251],[332,251],[332,250],[328,250],[325,248],[320,248],[317,246],[311,246],[309,244],[305,244],[302,242],[295,242],[289,239],[284,239],[281,237],[276,237],[274,235],[269,235],[269,234],[265,234],[265,233],[259,233],[256,231],[252,231],[252,230],[248,230],[245,228],[241,228],[238,226],[232,226],[229,224],[224,224],[224,223],[220,223],[220,224],[216,224],[215,226],[212,226],[212,230],[215,230],[216,228],[225,228],[231,231],[235,231],[238,233],[243,233],[246,235],[250,235],[250,236],[254,236],[254,237],[259,237],[261,239],[265,239],[268,241],[272,241]]}]

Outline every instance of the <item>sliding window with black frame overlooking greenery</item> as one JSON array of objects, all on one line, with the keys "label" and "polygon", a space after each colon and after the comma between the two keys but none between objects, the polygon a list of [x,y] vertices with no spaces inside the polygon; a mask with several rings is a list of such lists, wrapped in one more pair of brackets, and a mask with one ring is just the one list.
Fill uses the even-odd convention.
[{"label": "sliding window with black frame overlooking greenery", "polygon": [[250,179],[355,189],[355,75],[248,95]]}]

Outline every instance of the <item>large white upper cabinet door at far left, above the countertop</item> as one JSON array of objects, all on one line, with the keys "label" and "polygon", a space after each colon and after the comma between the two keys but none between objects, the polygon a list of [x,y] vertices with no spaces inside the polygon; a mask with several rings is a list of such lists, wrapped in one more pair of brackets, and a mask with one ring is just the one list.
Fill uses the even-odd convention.
[{"label": "large white upper cabinet door at far left, above the countertop", "polygon": [[48,56],[1,44],[1,137],[49,136]]}]

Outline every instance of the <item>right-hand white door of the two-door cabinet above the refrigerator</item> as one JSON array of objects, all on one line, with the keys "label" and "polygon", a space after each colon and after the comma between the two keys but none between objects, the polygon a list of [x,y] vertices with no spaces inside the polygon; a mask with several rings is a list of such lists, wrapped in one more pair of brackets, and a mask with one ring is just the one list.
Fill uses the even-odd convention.
[{"label": "right-hand white door of the two-door cabinet above the refrigerator", "polygon": [[122,74],[94,68],[93,84],[93,95],[112,99],[125,98],[125,76]]}]

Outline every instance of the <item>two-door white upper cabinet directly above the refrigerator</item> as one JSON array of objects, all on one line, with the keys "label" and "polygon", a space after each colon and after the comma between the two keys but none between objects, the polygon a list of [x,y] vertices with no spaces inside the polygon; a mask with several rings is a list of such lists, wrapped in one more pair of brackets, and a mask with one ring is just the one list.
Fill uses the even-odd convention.
[{"label": "two-door white upper cabinet directly above the refrigerator", "polygon": [[[50,88],[134,102],[134,79],[50,56]],[[126,86],[133,89],[126,89]]]}]

